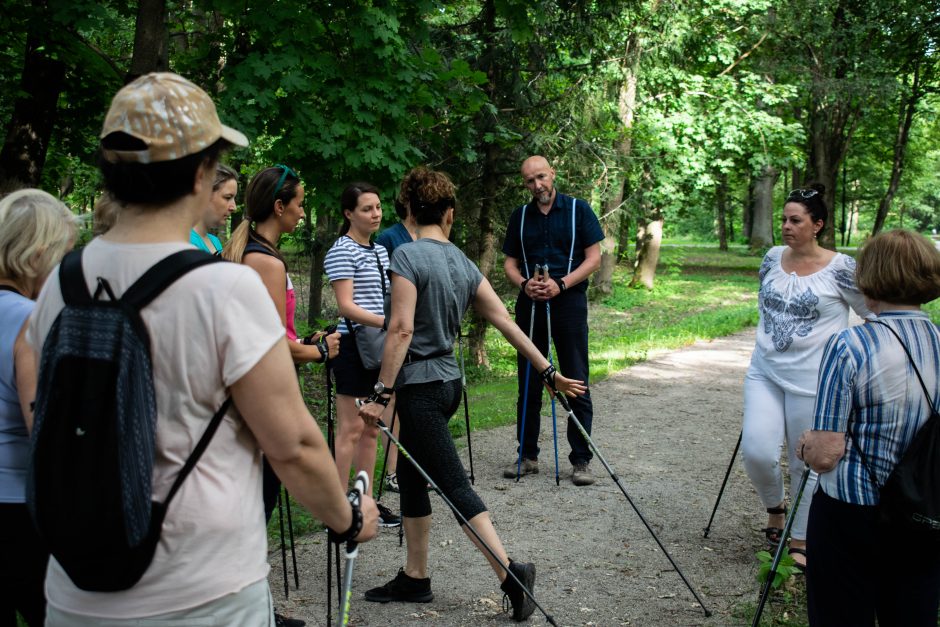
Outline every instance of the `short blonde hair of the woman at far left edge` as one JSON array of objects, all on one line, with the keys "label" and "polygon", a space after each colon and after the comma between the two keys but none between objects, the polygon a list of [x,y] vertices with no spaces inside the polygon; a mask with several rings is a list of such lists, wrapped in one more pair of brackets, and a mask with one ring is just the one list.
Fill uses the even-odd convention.
[{"label": "short blonde hair of the woman at far left edge", "polygon": [[78,217],[39,189],[0,200],[0,277],[34,285],[45,280],[78,233]]}]

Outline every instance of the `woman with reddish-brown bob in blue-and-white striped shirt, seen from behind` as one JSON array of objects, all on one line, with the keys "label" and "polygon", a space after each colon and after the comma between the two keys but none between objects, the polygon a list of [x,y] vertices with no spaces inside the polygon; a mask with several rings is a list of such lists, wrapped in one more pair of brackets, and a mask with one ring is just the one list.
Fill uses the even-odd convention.
[{"label": "woman with reddish-brown bob in blue-and-white striped shirt, seen from behind", "polygon": [[797,443],[798,456],[819,473],[807,535],[809,620],[864,627],[877,616],[881,627],[936,627],[940,547],[885,528],[876,506],[880,486],[931,413],[892,330],[932,401],[940,398],[940,331],[921,311],[940,296],[940,251],[910,231],[883,233],[859,253],[856,284],[884,324],[829,339],[813,429]]}]

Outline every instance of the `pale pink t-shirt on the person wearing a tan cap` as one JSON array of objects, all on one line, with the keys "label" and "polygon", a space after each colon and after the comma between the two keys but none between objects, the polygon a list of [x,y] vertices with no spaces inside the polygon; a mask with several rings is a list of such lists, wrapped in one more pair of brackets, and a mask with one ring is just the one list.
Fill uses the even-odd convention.
[{"label": "pale pink t-shirt on the person wearing a tan cap", "polygon": [[[92,293],[102,276],[121,294],[151,265],[186,248],[184,242],[116,244],[98,238],[83,254],[85,278]],[[30,319],[27,339],[34,347],[42,346],[62,307],[56,269]],[[228,387],[284,341],[284,328],[258,275],[234,263],[189,272],[141,315],[151,338],[157,399],[153,491],[162,501]],[[137,585],[86,592],[53,558],[46,596],[75,614],[136,618],[202,605],[267,573],[260,450],[232,409],[170,504],[153,562]]]}]

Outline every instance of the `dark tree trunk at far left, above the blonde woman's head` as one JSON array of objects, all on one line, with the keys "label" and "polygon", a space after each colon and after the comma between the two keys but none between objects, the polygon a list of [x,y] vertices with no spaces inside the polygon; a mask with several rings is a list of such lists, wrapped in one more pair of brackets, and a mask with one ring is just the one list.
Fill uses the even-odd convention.
[{"label": "dark tree trunk at far left, above the blonde woman's head", "polygon": [[48,47],[48,38],[35,31],[26,37],[20,90],[0,150],[0,192],[38,187],[42,177],[65,80],[65,64],[48,56]]}]

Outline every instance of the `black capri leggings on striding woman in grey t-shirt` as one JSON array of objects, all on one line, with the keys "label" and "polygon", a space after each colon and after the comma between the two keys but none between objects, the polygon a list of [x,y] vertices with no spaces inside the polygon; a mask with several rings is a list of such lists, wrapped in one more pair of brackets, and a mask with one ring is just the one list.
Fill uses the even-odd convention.
[{"label": "black capri leggings on striding woman in grey t-shirt", "polygon": [[[460,380],[404,385],[395,396],[395,410],[401,420],[400,440],[408,454],[467,520],[485,512],[486,506],[470,487],[454,439],[447,429],[447,423],[460,405]],[[398,462],[398,485],[402,516],[430,516],[427,484],[411,460]],[[463,524],[456,514],[454,517]]]}]

